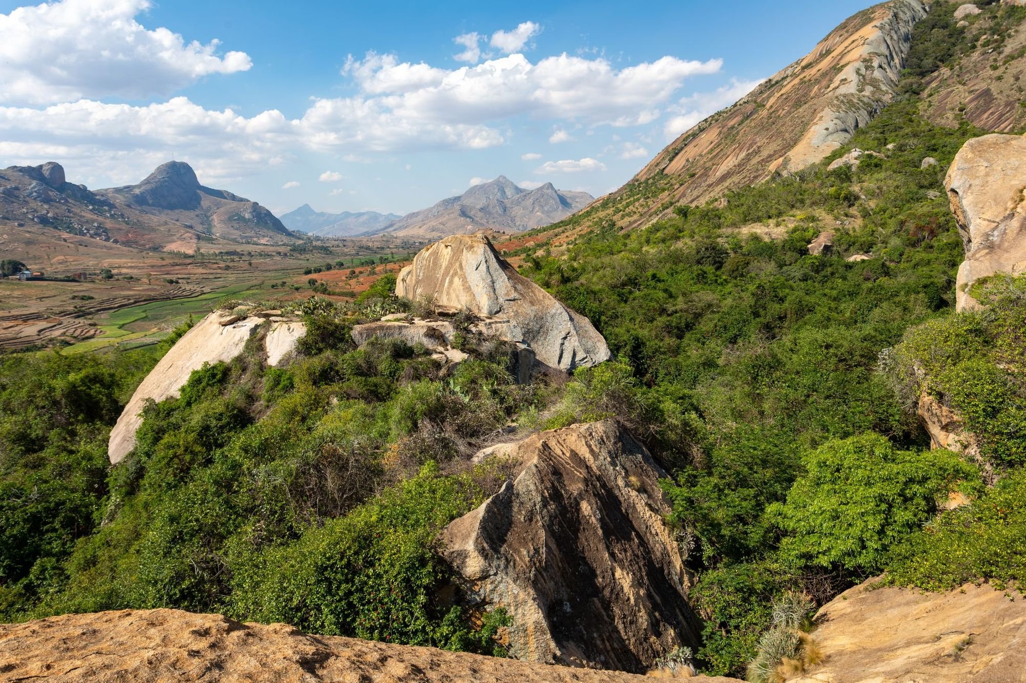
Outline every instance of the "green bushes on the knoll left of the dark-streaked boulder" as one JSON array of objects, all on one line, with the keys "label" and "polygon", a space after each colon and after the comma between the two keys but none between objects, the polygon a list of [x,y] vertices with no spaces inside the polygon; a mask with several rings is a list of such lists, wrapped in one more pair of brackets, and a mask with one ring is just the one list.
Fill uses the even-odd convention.
[{"label": "green bushes on the knoll left of the dark-streaked boulder", "polygon": [[360,311],[401,304],[376,293],[359,311],[308,300],[285,368],[264,366],[258,335],[193,372],[109,473],[109,427],[159,351],[7,360],[3,616],[173,606],[492,651],[501,613],[472,629],[436,604],[433,538],[507,476],[461,455],[544,387],[514,384],[510,349],[469,329],[446,376],[421,347],[356,349]]}]

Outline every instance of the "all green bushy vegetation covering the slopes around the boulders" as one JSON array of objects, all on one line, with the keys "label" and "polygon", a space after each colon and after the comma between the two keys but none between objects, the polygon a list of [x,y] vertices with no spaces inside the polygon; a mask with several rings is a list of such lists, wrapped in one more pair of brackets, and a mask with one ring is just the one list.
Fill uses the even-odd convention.
[{"label": "all green bushy vegetation covering the slopes around the boulders", "polygon": [[[587,226],[564,253],[519,250],[523,274],[617,357],[565,387],[515,385],[509,349],[466,316],[452,322],[471,360],[451,373],[423,348],[354,348],[357,320],[430,312],[390,298],[388,276],[345,307],[304,304],[308,333],[284,367],[265,367],[254,337],[194,372],[147,407],[135,450],[109,469],[109,428],[169,342],[0,358],[0,617],[173,606],[497,651],[505,614],[436,600],[437,531],[507,476],[466,455],[511,420],[608,416],[671,473],[707,673],[814,664],[810,612],[881,571],[930,590],[1021,585],[1026,280],[981,283],[986,308],[952,313],[962,252],[942,179],[982,131],[932,126],[915,98],[965,49],[954,6],[916,28],[908,97],[824,163],[639,230],[621,232],[606,204],[595,225],[586,211],[538,233]],[[854,147],[884,156],[827,170]],[[939,164],[921,169],[928,156]],[[667,183],[607,201],[627,210]],[[832,249],[811,254],[824,231]],[[975,450],[929,450],[923,396],[962,416]],[[953,492],[966,505],[942,512]],[[674,656],[662,666],[692,664]]]}]

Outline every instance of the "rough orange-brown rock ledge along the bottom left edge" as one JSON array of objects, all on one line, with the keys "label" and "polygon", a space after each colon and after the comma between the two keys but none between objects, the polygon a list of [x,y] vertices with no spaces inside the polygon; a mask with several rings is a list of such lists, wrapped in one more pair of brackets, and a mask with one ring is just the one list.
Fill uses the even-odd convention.
[{"label": "rough orange-brown rock ledge along the bottom left edge", "polygon": [[25,680],[641,683],[643,679],[430,647],[308,636],[284,624],[240,624],[218,614],[151,609],[0,625],[0,681]]}]

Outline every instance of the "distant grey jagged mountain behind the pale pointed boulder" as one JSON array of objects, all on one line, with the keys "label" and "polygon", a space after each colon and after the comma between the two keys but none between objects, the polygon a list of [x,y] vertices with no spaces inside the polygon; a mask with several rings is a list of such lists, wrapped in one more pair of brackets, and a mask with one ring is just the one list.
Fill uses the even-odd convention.
[{"label": "distant grey jagged mountain behind the pale pointed boulder", "polygon": [[524,190],[500,175],[367,234],[437,238],[479,230],[520,232],[555,223],[593,200],[587,192],[556,190],[551,183]]}]

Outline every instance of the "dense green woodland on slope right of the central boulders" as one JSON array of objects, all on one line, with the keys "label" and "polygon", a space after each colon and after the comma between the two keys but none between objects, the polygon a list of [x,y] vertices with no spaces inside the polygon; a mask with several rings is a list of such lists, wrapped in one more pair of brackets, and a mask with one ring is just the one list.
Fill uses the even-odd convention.
[{"label": "dense green woodland on slope right of the central boulders", "polygon": [[[595,226],[565,257],[544,245],[525,254],[525,274],[605,335],[628,370],[619,386],[634,388],[629,405],[650,426],[640,430],[674,472],[667,490],[700,574],[707,672],[744,671],[775,597],[801,591],[822,603],[885,569],[949,490],[975,490],[975,466],[923,452],[929,439],[881,353],[912,326],[952,319],[961,248],[942,179],[980,132],[932,126],[906,99],[852,140],[885,158],[827,171],[845,148],[728,193],[725,205],[677,207],[625,233]],[[920,169],[926,156],[940,164]],[[810,255],[824,230],[836,233],[833,252]],[[942,374],[959,383],[961,409],[986,412],[995,442],[1013,448],[1007,437],[1023,425],[1007,400],[1014,386],[988,408],[980,399],[993,383]],[[998,403],[1008,414],[993,414]]]}]

